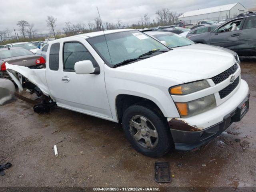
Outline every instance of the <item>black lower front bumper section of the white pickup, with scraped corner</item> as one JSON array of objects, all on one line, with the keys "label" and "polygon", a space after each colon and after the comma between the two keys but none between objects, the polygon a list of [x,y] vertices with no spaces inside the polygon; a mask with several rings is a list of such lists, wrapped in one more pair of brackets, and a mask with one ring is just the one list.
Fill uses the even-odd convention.
[{"label": "black lower front bumper section of the white pickup, with scraped corner", "polygon": [[[248,111],[249,106],[249,97],[250,94],[246,96],[246,98],[236,107],[235,110],[224,116],[223,120],[218,122],[217,124],[210,126],[208,128],[205,128],[203,130],[198,130],[196,128],[192,129],[192,126],[185,124],[184,122],[180,122],[181,120],[173,121],[177,124],[177,122],[180,122],[180,125],[183,124],[183,130],[177,130],[173,129],[173,125],[170,124],[170,130],[172,133],[172,138],[175,143],[176,150],[192,150],[194,148],[198,148],[219,134],[221,134],[224,130],[226,130],[233,122],[238,122],[242,119],[244,114]],[[246,102],[247,101],[247,102]],[[246,102],[247,109],[243,112],[243,115],[240,116],[241,113],[241,105]],[[179,127],[181,128],[181,127]],[[188,128],[187,131],[185,128]]]}]

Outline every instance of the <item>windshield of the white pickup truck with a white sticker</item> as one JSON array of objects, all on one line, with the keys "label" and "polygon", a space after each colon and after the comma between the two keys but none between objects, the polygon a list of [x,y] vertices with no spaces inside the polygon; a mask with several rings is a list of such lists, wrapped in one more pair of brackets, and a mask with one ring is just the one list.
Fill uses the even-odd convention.
[{"label": "windshield of the white pickup truck with a white sticker", "polygon": [[[106,40],[102,35],[88,38],[87,41],[109,66],[138,58],[152,50],[169,51],[166,46],[139,31],[106,34]],[[161,54],[160,51],[157,53]]]}]

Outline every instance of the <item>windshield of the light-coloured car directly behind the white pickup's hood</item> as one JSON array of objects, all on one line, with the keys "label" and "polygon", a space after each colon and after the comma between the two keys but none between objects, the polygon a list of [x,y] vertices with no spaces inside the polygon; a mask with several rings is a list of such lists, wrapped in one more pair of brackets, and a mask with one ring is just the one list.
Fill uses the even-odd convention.
[{"label": "windshield of the light-coloured car directly behind the white pickup's hood", "polygon": [[170,48],[194,44],[193,41],[191,41],[185,37],[182,37],[180,35],[177,35],[177,34],[167,34],[166,33],[166,34],[157,34],[157,35],[153,35],[153,36],[154,36],[154,38],[158,39],[159,41],[165,41],[166,46],[168,46]]}]

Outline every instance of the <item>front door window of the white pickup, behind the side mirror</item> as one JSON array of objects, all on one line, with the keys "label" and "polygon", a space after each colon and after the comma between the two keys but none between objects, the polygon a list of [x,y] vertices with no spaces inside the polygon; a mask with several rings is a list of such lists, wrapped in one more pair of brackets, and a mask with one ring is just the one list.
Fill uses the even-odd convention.
[{"label": "front door window of the white pickup, behind the side mirror", "polygon": [[74,70],[75,63],[78,61],[90,60],[94,67],[97,66],[96,60],[88,50],[78,42],[64,43],[63,64],[64,70]]}]

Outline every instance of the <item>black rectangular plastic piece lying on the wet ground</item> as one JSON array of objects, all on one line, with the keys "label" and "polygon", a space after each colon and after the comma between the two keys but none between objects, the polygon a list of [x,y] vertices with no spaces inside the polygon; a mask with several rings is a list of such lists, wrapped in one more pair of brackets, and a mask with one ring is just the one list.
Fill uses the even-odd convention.
[{"label": "black rectangular plastic piece lying on the wet ground", "polygon": [[169,162],[155,163],[155,180],[158,183],[171,182]]}]

